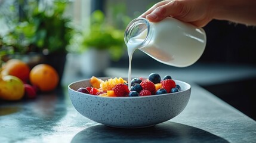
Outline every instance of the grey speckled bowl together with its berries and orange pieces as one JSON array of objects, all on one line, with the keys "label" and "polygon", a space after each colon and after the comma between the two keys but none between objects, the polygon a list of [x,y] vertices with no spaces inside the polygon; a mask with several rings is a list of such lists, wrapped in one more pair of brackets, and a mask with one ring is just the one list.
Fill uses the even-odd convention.
[{"label": "grey speckled bowl together with its berries and orange pieces", "polygon": [[157,79],[159,83],[154,83],[152,80],[155,79],[150,80],[150,76],[134,78],[131,83],[135,83],[128,88],[127,78],[91,77],[70,83],[69,97],[76,110],[94,122],[115,128],[145,128],[180,114],[191,93],[191,86],[186,82]]}]

